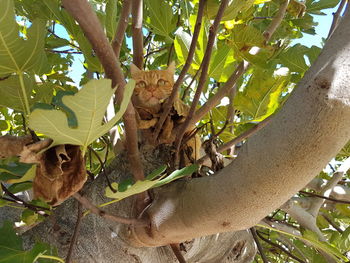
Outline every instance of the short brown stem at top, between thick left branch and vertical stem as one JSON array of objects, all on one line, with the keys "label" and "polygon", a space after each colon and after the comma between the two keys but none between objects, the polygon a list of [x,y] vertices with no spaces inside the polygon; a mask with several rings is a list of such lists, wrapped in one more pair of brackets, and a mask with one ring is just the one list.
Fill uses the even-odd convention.
[{"label": "short brown stem at top, between thick left branch and vertical stem", "polygon": [[115,35],[112,41],[112,48],[118,60],[119,60],[120,50],[122,48],[122,44],[124,40],[124,34],[126,31],[126,28],[128,27],[130,11],[131,11],[131,0],[124,0],[122,10],[120,12],[117,30],[115,32]]}]

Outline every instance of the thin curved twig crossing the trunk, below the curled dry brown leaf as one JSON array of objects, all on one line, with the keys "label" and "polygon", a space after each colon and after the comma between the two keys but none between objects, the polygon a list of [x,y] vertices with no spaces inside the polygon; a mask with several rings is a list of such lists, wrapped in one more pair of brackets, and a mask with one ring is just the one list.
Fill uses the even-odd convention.
[{"label": "thin curved twig crossing the trunk, below the curled dry brown leaf", "polygon": [[93,205],[86,197],[81,196],[79,193],[75,193],[73,197],[77,199],[86,209],[89,209],[91,213],[96,214],[105,219],[108,219],[117,223],[121,223],[121,224],[126,224],[126,225],[134,225],[134,226],[148,225],[148,223],[142,219],[125,218],[125,217],[108,214],[105,211]]}]

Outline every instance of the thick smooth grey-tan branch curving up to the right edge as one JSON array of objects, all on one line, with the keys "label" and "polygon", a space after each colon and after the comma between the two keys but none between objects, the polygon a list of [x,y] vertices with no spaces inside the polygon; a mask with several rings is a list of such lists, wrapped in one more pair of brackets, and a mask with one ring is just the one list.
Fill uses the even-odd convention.
[{"label": "thick smooth grey-tan branch curving up to the right edge", "polygon": [[135,245],[250,228],[319,174],[350,138],[348,28],[346,15],[281,111],[230,165],[155,190],[151,228],[133,228],[142,240]]}]

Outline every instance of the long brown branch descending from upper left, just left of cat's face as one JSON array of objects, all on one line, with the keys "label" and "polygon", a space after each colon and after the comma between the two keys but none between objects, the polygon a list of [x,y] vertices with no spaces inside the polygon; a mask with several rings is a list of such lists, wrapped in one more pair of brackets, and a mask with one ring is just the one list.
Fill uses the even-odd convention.
[{"label": "long brown branch descending from upper left, just left of cat's face", "polygon": [[[116,91],[117,102],[122,100],[125,79],[120,64],[113,49],[109,44],[106,35],[103,32],[100,21],[96,13],[86,0],[62,0],[64,8],[78,21],[80,27],[84,31],[86,37],[94,48],[96,55],[106,72],[106,76],[112,79],[112,86],[118,85]],[[144,179],[143,166],[140,159],[138,143],[137,143],[137,123],[135,117],[135,109],[130,102],[123,116],[125,125],[126,147],[128,151],[129,162],[132,164],[131,172],[136,180]],[[145,199],[147,196],[143,194],[138,199],[138,212],[144,209]]]}]

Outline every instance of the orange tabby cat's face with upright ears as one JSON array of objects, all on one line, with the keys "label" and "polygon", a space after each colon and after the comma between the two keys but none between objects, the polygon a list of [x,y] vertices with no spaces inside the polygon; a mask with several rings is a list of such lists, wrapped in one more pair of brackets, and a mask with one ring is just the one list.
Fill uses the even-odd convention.
[{"label": "orange tabby cat's face with upright ears", "polygon": [[173,85],[175,63],[165,70],[143,71],[131,64],[131,77],[136,81],[134,99],[139,107],[155,108],[169,98]]}]

